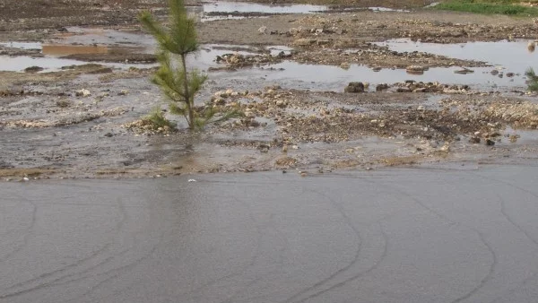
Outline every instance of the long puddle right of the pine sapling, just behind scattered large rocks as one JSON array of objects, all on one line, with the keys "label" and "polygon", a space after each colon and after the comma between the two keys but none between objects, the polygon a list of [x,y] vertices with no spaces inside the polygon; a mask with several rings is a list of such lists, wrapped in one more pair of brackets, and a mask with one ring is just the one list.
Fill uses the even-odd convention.
[{"label": "long puddle right of the pine sapling, just behind scattered large rocks", "polygon": [[[281,70],[283,69],[283,70]],[[382,69],[374,72],[364,65],[351,65],[347,70],[332,65],[301,65],[295,62],[283,62],[276,65],[265,65],[262,68],[241,70],[237,73],[213,73],[217,76],[237,77],[243,79],[263,79],[271,82],[282,82],[284,86],[313,91],[343,91],[348,82],[369,82],[370,89],[377,83],[404,82],[441,82],[447,84],[467,84],[482,91],[497,91],[525,87],[522,77],[499,78],[490,74],[490,67],[473,68],[473,74],[455,74],[459,67],[430,68],[424,74],[407,74],[402,69]],[[213,77],[212,74],[212,77]]]}]

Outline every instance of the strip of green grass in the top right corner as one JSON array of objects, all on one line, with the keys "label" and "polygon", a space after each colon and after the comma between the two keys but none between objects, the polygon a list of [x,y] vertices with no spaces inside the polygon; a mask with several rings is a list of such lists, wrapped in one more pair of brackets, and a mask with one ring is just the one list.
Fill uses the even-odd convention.
[{"label": "strip of green grass in the top right corner", "polygon": [[456,12],[538,16],[538,7],[524,6],[520,3],[518,0],[450,0],[437,4],[434,8]]}]

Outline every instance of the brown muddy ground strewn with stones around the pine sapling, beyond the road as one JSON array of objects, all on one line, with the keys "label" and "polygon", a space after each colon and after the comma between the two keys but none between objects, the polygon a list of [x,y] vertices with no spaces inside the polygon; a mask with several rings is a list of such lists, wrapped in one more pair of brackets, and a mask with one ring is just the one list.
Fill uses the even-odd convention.
[{"label": "brown muddy ground strewn with stones around the pine sapling, beyond the road", "polygon": [[[420,51],[398,53],[372,42],[538,39],[538,27],[531,20],[436,12],[417,8],[423,3],[415,1],[375,3],[413,9],[199,22],[199,37],[204,44],[242,45],[249,50],[293,48],[285,56],[262,51],[238,55],[237,60],[220,65],[239,70],[236,73],[250,73],[264,62],[290,60],[343,68],[350,64],[395,69],[480,67],[487,64]],[[339,4],[374,5],[372,1]],[[162,7],[163,2],[157,0],[31,0],[23,4],[0,0],[0,42],[57,41],[71,37],[73,26],[142,35],[136,14],[142,9],[162,12]],[[77,35],[82,44],[99,44],[84,41],[83,33]],[[343,92],[347,82],[336,92],[311,91],[290,88],[285,79],[270,83],[210,74],[200,102],[239,108],[244,117],[208,126],[204,133],[188,134],[178,117],[166,113],[178,122],[178,132],[147,128],[139,119],[163,104],[163,99],[149,80],[155,58],[141,41],[114,42],[113,49],[121,44],[129,51],[68,56],[91,64],[38,74],[0,72],[0,177],[165,177],[267,169],[315,174],[386,165],[536,158],[535,97],[524,95],[525,91],[480,91],[455,83],[377,83],[366,92],[351,93]],[[45,56],[35,49],[9,45],[0,46],[0,55]],[[126,62],[145,65],[105,64]]]}]

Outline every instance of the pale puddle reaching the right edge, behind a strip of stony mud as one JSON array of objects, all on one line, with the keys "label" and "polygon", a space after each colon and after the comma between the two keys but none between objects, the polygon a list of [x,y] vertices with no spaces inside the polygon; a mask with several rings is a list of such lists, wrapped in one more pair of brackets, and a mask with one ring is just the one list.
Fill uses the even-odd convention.
[{"label": "pale puddle reaching the right edge, behind a strip of stony mud", "polygon": [[[529,41],[468,42],[457,44],[438,44],[413,42],[410,39],[394,39],[377,43],[398,52],[421,51],[464,60],[485,61],[491,65],[500,65],[507,72],[524,74],[528,67],[538,67],[538,51],[531,52]],[[490,68],[491,70],[492,68]]]}]

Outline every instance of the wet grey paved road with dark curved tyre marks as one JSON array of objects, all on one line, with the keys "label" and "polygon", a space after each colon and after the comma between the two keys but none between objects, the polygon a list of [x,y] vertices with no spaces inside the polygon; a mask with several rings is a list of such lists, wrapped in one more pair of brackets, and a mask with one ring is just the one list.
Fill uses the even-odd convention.
[{"label": "wet grey paved road with dark curved tyre marks", "polygon": [[0,301],[535,302],[536,167],[475,169],[0,183]]}]

